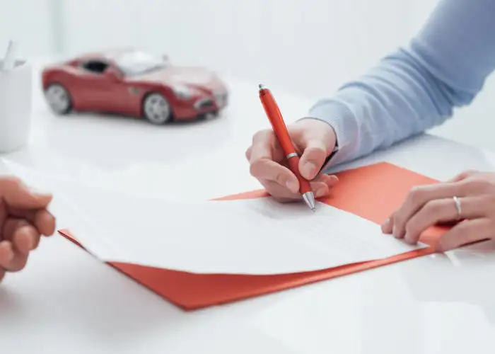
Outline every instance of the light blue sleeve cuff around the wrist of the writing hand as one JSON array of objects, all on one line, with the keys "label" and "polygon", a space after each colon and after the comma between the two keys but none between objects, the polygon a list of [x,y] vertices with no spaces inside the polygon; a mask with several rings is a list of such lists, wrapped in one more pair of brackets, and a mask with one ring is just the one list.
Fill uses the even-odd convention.
[{"label": "light blue sleeve cuff around the wrist of the writing hand", "polygon": [[[349,161],[359,142],[354,114],[344,103],[333,100],[318,101],[305,118],[317,119],[329,124],[337,137],[336,149],[330,154],[322,171]],[[305,119],[303,118],[303,119]]]}]

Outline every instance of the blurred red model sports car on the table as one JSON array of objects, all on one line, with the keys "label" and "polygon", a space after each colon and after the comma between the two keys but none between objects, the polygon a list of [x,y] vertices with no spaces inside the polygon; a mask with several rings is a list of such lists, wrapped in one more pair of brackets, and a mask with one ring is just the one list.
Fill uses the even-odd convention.
[{"label": "blurred red model sports car on the table", "polygon": [[175,66],[136,49],[82,55],[47,67],[42,87],[54,113],[114,113],[153,124],[216,115],[228,101],[225,84],[213,72]]}]

